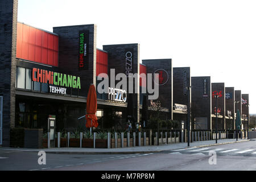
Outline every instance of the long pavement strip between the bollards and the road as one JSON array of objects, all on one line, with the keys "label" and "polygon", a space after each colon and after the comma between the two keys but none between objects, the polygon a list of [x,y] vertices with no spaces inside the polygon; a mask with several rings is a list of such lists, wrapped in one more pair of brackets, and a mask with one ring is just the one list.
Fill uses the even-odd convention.
[{"label": "long pavement strip between the bollards and the road", "polygon": [[162,152],[167,150],[178,150],[183,148],[199,148],[217,146],[221,144],[230,144],[238,142],[247,142],[248,139],[218,139],[206,140],[199,142],[188,143],[172,143],[162,144],[159,146],[136,146],[136,147],[124,147],[124,148],[72,148],[72,147],[61,147],[61,148],[12,148],[12,147],[0,147],[0,151],[12,150],[12,151],[27,151],[27,152],[39,152],[44,151],[48,154],[148,154],[155,152]]}]

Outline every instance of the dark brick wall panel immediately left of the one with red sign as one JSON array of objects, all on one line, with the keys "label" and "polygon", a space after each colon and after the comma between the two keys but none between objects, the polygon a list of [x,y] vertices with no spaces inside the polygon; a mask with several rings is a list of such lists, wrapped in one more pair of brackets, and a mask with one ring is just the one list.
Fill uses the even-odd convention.
[{"label": "dark brick wall panel immediately left of the one with red sign", "polygon": [[191,77],[191,120],[196,117],[207,117],[210,129],[212,113],[212,91],[210,76]]}]

